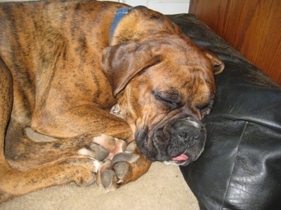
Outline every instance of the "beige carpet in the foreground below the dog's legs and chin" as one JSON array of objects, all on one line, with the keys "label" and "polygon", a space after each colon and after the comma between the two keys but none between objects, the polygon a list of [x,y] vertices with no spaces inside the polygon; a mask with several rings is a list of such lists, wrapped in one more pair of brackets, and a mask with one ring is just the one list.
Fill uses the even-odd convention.
[{"label": "beige carpet in the foreground below the dog's legs and chin", "polygon": [[112,193],[74,184],[40,190],[0,204],[0,209],[199,209],[177,166],[154,162],[147,174]]}]

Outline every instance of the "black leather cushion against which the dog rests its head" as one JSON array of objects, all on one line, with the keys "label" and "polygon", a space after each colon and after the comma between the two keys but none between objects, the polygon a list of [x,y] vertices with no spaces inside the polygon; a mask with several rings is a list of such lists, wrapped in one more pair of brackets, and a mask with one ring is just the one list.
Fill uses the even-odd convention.
[{"label": "black leather cushion against which the dog rests its head", "polygon": [[203,120],[202,156],[181,167],[201,209],[281,209],[281,87],[194,15],[168,15],[226,65]]}]

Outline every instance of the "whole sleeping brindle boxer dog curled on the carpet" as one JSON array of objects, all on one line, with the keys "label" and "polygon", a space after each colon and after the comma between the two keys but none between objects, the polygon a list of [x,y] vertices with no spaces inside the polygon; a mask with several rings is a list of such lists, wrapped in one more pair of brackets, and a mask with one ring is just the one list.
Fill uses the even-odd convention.
[{"label": "whole sleeping brindle boxer dog curled on the carpet", "polygon": [[[129,10],[110,37],[115,11],[127,7],[0,3],[0,202],[88,185],[93,173],[99,186],[117,188],[150,161],[187,165],[202,153],[199,121],[222,62],[148,8]],[[124,120],[110,113],[117,103]],[[35,143],[26,127],[60,140]],[[137,148],[119,153],[124,142],[101,134],[130,146],[136,139]]]}]

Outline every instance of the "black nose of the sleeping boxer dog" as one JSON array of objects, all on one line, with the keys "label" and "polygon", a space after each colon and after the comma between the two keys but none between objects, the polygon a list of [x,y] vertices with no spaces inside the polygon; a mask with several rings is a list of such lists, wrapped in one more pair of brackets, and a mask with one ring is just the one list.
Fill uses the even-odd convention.
[{"label": "black nose of the sleeping boxer dog", "polygon": [[181,140],[184,141],[185,144],[192,144],[191,141],[195,141],[200,137],[202,125],[190,118],[184,118],[176,120],[172,129],[181,137]]}]

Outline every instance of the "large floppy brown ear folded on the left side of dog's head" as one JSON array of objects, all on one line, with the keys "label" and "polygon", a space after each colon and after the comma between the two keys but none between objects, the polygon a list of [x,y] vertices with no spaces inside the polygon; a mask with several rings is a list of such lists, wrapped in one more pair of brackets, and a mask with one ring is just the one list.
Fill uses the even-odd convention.
[{"label": "large floppy brown ear folded on the left side of dog's head", "polygon": [[110,81],[113,96],[116,97],[134,76],[160,59],[152,46],[145,43],[125,43],[105,48],[102,67]]}]

